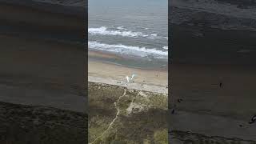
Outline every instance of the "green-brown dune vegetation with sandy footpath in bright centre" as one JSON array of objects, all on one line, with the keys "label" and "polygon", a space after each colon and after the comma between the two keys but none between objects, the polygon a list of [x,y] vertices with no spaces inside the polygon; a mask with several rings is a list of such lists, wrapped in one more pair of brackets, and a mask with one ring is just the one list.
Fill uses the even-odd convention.
[{"label": "green-brown dune vegetation with sandy footpath in bright centre", "polygon": [[[89,83],[89,141],[94,144],[167,143],[167,95],[126,89],[122,96],[125,89]],[[106,130],[111,120],[114,122]]]}]

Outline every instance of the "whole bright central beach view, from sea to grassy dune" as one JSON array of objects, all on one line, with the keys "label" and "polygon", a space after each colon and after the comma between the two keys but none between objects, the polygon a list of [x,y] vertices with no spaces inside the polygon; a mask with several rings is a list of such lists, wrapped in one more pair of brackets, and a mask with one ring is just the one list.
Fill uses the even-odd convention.
[{"label": "whole bright central beach view, from sea to grassy dune", "polygon": [[90,144],[168,143],[167,1],[89,6]]}]

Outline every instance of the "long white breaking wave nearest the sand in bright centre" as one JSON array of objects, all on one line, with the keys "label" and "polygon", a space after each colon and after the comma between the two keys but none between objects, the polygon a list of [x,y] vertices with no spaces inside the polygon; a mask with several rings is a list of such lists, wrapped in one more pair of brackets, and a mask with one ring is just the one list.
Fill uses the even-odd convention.
[{"label": "long white breaking wave nearest the sand in bright centre", "polygon": [[114,52],[118,54],[131,54],[139,57],[150,57],[154,58],[168,58],[168,51],[156,50],[156,49],[147,49],[146,47],[139,46],[125,46],[122,44],[109,45],[100,42],[88,42],[90,49],[95,50],[104,50],[109,52]]}]

